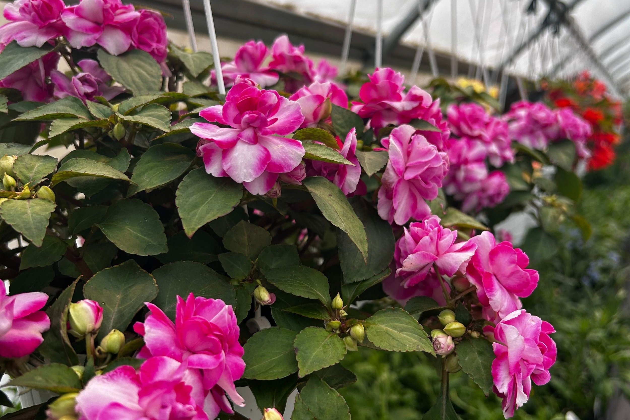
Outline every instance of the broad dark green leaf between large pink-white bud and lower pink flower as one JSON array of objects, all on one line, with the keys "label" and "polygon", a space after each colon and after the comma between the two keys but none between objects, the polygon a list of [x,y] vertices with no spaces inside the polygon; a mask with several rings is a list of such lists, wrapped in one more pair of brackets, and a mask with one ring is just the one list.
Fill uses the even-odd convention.
[{"label": "broad dark green leaf between large pink-white bud and lower pink flower", "polygon": [[83,295],[103,307],[98,341],[113,329],[124,331],[145,302],[157,296],[156,279],[128,260],[97,272],[83,286]]}]

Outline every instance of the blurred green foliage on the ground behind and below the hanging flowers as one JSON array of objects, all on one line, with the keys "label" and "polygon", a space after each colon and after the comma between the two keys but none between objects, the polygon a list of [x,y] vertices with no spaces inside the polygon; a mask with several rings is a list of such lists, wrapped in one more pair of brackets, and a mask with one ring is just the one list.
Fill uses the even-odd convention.
[{"label": "blurred green foliage on the ground behind and below the hanging flowers", "polygon": [[[514,418],[603,419],[611,399],[630,395],[630,145],[617,149],[616,164],[589,173],[578,211],[593,234],[584,242],[570,221],[554,235],[558,251],[522,247],[540,272],[538,288],[524,307],[556,328],[558,360],[551,382],[534,386]],[[533,235],[532,235],[533,236]],[[348,354],[344,365],[357,383],[341,390],[355,420],[421,419],[437,398],[435,360],[426,354],[374,351]],[[461,372],[451,375],[450,397],[462,419],[502,419],[500,399],[483,392]]]}]

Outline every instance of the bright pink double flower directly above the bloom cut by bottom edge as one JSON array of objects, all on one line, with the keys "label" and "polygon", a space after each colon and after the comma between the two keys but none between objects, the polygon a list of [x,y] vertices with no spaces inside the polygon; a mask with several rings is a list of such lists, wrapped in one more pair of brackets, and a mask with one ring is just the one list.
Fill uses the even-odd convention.
[{"label": "bright pink double flower directly above the bloom cut by bottom edge", "polygon": [[178,296],[175,323],[152,303],[151,313],[134,330],[144,337],[139,358],[168,356],[186,363],[189,374],[200,375],[205,390],[203,407],[210,419],[221,410],[232,413],[226,393],[237,405],[244,405],[234,381],[243,376],[243,347],[238,342],[239,327],[231,305],[222,300],[190,294]]}]

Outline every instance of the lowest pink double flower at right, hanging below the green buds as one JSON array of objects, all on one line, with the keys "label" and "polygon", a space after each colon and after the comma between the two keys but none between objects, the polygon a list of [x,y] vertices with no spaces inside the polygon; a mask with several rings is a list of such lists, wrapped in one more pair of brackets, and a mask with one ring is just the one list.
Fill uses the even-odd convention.
[{"label": "lowest pink double flower at right, hanging below the green buds", "polygon": [[[486,332],[492,328],[486,327]],[[529,399],[532,380],[536,385],[549,382],[549,368],[556,362],[556,343],[549,337],[555,332],[549,322],[525,312],[508,313],[494,329],[492,362],[495,393],[503,398],[505,418]]]}]

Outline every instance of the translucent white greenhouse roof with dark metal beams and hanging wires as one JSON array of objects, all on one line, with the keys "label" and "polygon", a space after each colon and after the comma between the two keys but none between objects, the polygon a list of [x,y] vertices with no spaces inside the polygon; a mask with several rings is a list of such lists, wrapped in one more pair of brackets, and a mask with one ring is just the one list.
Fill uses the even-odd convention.
[{"label": "translucent white greenhouse roof with dark metal beams and hanging wires", "polygon": [[[271,42],[288,33],[307,50],[340,55],[354,0],[212,0],[219,36]],[[467,74],[496,83],[499,71],[537,79],[570,77],[584,69],[613,91],[630,88],[630,2],[627,0],[355,0],[350,57],[374,66],[377,9],[382,7],[385,65]],[[154,0],[185,27],[180,0]],[[202,0],[191,0],[193,21],[205,32]],[[455,53],[455,54],[453,54]],[[450,57],[457,57],[452,64]],[[468,66],[468,63],[473,66]],[[456,70],[455,70],[456,66]]]}]

